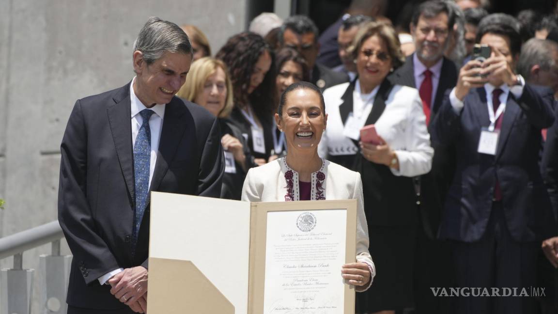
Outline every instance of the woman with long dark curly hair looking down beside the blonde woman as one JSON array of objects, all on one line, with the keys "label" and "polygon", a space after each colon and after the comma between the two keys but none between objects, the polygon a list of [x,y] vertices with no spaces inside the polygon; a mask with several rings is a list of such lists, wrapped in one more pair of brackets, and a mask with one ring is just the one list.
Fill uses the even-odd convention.
[{"label": "woman with long dark curly hair looking down beside the blonde woman", "polygon": [[233,84],[230,122],[237,126],[258,165],[267,163],[273,149],[273,51],[263,38],[242,32],[229,38],[215,58],[227,64]]}]

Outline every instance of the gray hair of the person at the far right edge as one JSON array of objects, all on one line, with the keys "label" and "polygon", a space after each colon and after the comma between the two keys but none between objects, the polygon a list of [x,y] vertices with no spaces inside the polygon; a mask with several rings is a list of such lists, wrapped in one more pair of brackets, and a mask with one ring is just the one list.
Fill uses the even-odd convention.
[{"label": "gray hair of the person at the far right edge", "polygon": [[525,80],[531,79],[531,68],[538,65],[549,70],[555,65],[554,54],[558,53],[558,44],[550,40],[532,38],[521,47],[521,55],[517,61],[517,73]]}]

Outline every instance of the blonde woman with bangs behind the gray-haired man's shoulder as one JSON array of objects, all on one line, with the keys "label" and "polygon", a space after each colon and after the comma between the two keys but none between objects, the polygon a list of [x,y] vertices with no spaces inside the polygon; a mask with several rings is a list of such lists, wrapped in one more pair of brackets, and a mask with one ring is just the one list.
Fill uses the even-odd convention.
[{"label": "blonde woman with bangs behind the gray-haired man's shoulder", "polygon": [[232,84],[223,61],[205,57],[196,60],[176,96],[195,102],[219,118],[225,173],[221,198],[240,199],[242,183],[254,164],[238,127],[227,121],[233,109]]}]

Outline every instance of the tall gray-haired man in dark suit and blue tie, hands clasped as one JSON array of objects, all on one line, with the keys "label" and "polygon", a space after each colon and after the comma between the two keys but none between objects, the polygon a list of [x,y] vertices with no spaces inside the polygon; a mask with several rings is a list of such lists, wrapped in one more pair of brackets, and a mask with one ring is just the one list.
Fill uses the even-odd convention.
[{"label": "tall gray-haired man in dark suit and blue tie, hands clasped", "polygon": [[58,202],[74,255],[68,313],[145,312],[150,191],[219,197],[218,120],[174,96],[192,57],[184,31],[152,17],[134,44],[132,82],[75,103]]}]

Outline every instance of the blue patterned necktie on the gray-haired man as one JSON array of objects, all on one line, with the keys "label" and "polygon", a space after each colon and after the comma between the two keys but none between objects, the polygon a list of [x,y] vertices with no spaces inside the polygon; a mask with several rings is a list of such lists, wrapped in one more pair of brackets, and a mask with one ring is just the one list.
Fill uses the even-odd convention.
[{"label": "blue patterned necktie on the gray-haired man", "polygon": [[134,144],[134,177],[136,179],[136,212],[134,214],[133,246],[136,246],[138,231],[140,230],[143,212],[147,206],[149,195],[149,170],[151,165],[151,129],[149,118],[155,113],[152,110],[140,111],[143,118],[142,125]]}]

